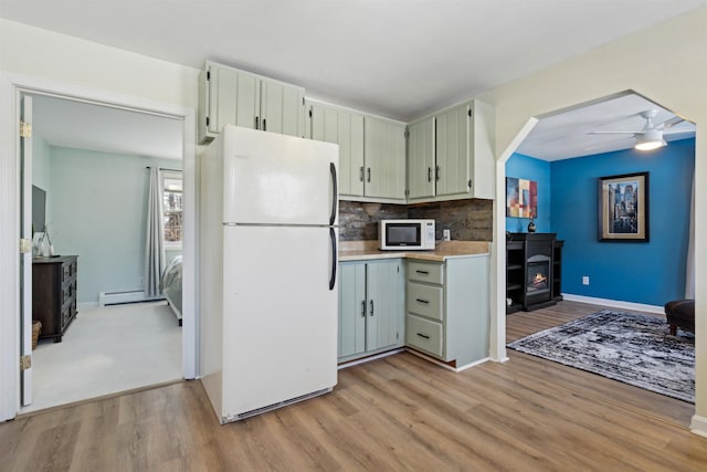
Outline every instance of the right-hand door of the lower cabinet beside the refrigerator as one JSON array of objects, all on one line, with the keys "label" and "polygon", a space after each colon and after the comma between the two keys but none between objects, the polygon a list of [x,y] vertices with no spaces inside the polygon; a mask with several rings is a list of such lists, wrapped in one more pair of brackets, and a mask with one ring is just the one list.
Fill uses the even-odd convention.
[{"label": "right-hand door of the lower cabinet beside the refrigerator", "polygon": [[367,264],[366,350],[397,345],[402,340],[400,321],[404,316],[401,262]]}]

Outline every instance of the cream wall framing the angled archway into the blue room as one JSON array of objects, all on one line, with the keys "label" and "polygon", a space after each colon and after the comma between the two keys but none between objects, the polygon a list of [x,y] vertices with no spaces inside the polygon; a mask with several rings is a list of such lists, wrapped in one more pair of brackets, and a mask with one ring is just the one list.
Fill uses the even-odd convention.
[{"label": "cream wall framing the angled archway into the blue room", "polygon": [[[707,241],[707,8],[564,61],[481,98],[496,106],[496,153],[505,159],[531,117],[626,90],[634,90],[697,125],[696,284],[707,286],[707,244],[699,243]],[[503,169],[503,165],[497,167],[499,174]],[[497,201],[504,201],[503,188],[498,191]],[[494,240],[498,253],[504,253],[504,238],[498,238],[503,234],[504,209],[503,204],[497,207]],[[503,286],[500,258],[496,264],[497,286]],[[495,316],[497,329],[505,331],[503,305]],[[696,331],[707,333],[705,292],[697,293]],[[696,390],[693,426],[707,433],[707,336],[700,335],[696,342]]]}]

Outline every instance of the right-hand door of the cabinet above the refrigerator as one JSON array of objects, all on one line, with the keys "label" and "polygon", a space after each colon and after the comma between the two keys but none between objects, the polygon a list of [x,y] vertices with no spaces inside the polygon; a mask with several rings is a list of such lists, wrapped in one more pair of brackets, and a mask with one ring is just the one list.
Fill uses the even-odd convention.
[{"label": "right-hand door of the cabinet above the refrigerator", "polygon": [[261,123],[264,132],[304,136],[304,90],[261,81]]}]

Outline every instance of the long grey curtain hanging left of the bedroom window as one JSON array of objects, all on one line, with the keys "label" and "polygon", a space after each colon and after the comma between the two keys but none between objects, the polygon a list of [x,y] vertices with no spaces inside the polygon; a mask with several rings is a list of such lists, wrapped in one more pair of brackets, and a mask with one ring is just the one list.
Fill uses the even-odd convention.
[{"label": "long grey curtain hanging left of the bedroom window", "polygon": [[162,185],[157,166],[150,168],[150,188],[147,198],[147,235],[145,245],[145,296],[159,296],[159,279],[165,270],[162,225]]}]

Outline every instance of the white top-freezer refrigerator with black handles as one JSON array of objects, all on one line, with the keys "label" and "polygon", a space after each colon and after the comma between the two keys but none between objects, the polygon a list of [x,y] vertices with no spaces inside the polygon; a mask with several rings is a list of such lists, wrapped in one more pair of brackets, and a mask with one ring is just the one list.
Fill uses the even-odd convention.
[{"label": "white top-freezer refrigerator with black handles", "polygon": [[338,146],[225,126],[200,157],[200,377],[221,423],[337,382]]}]

